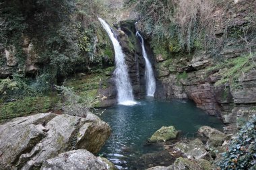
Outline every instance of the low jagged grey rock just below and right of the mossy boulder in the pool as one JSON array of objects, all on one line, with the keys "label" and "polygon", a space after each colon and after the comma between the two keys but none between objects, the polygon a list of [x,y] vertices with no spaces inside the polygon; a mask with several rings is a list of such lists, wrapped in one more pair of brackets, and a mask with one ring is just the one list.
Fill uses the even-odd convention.
[{"label": "low jagged grey rock just below and right of the mossy boulder in the pool", "polygon": [[188,159],[206,159],[209,156],[203,142],[198,138],[189,143],[178,142],[174,145],[174,149],[183,153]]}]

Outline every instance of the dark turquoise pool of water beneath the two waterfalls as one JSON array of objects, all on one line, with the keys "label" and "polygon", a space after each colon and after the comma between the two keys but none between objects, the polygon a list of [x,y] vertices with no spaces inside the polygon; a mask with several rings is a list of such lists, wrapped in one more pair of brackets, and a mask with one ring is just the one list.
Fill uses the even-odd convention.
[{"label": "dark turquoise pool of water beneath the two waterfalls", "polygon": [[[162,145],[148,144],[147,139],[162,126],[181,130],[180,137],[195,137],[200,126],[222,128],[222,122],[196,108],[191,101],[143,99],[138,105],[115,105],[99,115],[112,128],[112,134],[100,155],[119,169],[131,169],[132,162],[146,153],[163,150]],[[138,168],[139,169],[139,168]]]}]

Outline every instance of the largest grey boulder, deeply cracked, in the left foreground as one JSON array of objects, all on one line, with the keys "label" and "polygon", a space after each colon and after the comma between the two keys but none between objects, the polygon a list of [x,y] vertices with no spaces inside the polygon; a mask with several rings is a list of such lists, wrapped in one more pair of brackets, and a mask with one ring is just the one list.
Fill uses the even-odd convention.
[{"label": "largest grey boulder, deeply cracked, in the left foreground", "polygon": [[46,159],[77,148],[97,153],[109,135],[108,124],[93,114],[15,118],[0,126],[0,167],[36,169]]}]

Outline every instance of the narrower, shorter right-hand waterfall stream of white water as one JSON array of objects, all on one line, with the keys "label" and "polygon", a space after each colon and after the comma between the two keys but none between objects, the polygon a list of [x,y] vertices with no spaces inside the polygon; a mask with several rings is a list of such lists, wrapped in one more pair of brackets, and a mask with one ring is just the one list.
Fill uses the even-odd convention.
[{"label": "narrower, shorter right-hand waterfall stream of white water", "polygon": [[147,95],[148,96],[154,96],[154,93],[156,91],[156,79],[154,77],[154,72],[152,69],[152,65],[150,63],[150,60],[148,60],[148,54],[146,52],[145,46],[144,46],[144,40],[142,36],[139,34],[139,32],[136,32],[136,36],[138,36],[141,40],[141,47],[142,47],[142,54],[146,61],[146,89],[147,89]]}]

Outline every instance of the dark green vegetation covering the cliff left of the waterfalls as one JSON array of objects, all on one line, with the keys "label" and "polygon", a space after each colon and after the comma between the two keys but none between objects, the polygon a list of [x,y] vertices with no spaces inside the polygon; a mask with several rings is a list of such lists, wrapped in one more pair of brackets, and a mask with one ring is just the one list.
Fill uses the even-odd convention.
[{"label": "dark green vegetation covering the cliff left of the waterfalls", "polygon": [[[98,0],[0,3],[1,119],[60,108],[55,84],[77,71],[102,73],[113,67],[112,46],[97,18],[103,9]],[[11,66],[6,51],[13,52]],[[35,69],[28,71],[31,65]],[[86,89],[82,97],[94,101],[96,92]],[[51,107],[37,104],[51,98]]]}]

